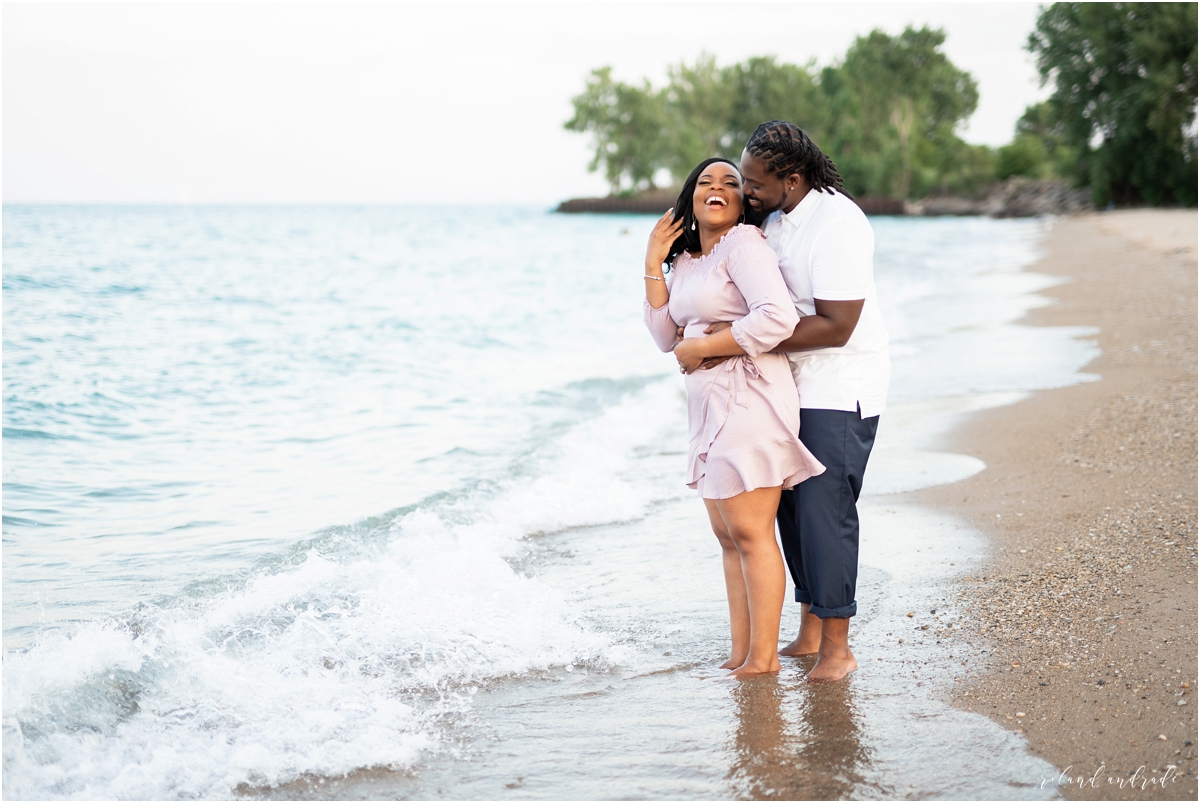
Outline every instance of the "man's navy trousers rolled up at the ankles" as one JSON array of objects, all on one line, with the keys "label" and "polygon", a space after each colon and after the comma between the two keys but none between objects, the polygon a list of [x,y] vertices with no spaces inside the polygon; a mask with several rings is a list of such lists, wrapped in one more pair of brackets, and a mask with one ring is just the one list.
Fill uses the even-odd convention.
[{"label": "man's navy trousers rolled up at the ankles", "polygon": [[878,426],[878,415],[800,411],[800,442],[826,469],[784,491],[776,519],[796,601],[822,619],[858,612],[857,505]]}]

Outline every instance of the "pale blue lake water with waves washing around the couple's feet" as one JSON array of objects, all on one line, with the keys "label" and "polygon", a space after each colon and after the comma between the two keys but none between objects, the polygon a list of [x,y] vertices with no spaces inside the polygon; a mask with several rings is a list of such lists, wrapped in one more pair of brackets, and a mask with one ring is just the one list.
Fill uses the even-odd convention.
[{"label": "pale blue lake water with waves washing around the couple's feet", "polygon": [[964,415],[1088,378],[1092,332],[1014,323],[1048,223],[872,218],[862,670],[809,688],[716,679],[652,221],[5,206],[5,797],[1052,793],[938,702],[989,660],[946,593],[988,546],[896,496],[983,467],[938,450]]}]

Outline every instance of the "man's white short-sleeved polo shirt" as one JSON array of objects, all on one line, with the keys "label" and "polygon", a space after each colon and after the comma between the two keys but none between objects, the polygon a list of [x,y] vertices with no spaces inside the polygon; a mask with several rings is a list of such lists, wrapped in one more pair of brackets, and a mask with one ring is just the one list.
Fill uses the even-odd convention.
[{"label": "man's white short-sleeved polo shirt", "polygon": [[814,299],[864,299],[845,346],[788,353],[800,407],[878,415],[887,405],[892,359],[875,298],[875,233],[866,215],[840,192],[810,190],[791,214],[772,214],[763,229],[800,317],[816,314]]}]

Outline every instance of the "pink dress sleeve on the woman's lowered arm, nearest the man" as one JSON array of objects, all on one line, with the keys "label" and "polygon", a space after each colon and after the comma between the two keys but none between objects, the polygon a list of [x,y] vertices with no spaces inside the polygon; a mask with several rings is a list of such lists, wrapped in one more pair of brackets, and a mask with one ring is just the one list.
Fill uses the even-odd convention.
[{"label": "pink dress sleeve on the woman's lowered arm, nearest the man", "polygon": [[750,356],[791,337],[800,317],[779,272],[779,257],[766,241],[749,241],[730,254],[730,278],[750,312],[733,322],[733,340]]}]

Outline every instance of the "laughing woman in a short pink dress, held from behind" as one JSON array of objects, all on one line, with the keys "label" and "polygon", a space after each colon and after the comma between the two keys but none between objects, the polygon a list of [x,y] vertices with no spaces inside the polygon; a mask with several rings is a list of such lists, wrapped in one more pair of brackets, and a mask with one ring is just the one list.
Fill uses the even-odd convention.
[{"label": "laughing woman in a short pink dress, held from behind", "polygon": [[[785,583],[775,510],[781,489],[824,471],[797,437],[787,358],[769,353],[799,318],[775,252],[742,220],[740,174],[709,158],[688,176],[646,250],[646,324],[686,377],[688,485],[700,491],[721,544],[733,642],[721,667],[736,677],[779,671]],[[718,322],[733,325],[704,336]],[[712,356],[732,359],[703,367]]]}]

